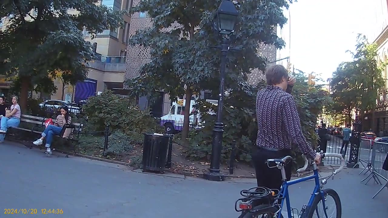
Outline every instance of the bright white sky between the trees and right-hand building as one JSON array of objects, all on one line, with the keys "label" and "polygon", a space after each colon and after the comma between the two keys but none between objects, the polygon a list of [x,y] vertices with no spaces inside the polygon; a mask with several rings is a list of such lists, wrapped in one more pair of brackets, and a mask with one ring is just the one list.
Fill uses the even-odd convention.
[{"label": "bright white sky between the trees and right-hand building", "polygon": [[[314,72],[324,80],[331,78],[338,64],[351,61],[346,50],[355,50],[358,33],[370,35],[373,7],[379,0],[298,0],[286,16],[289,23],[281,35],[286,48],[281,57],[290,56],[296,69]],[[291,34],[290,29],[291,28]],[[291,37],[290,37],[291,36]],[[290,39],[291,38],[291,39]],[[373,41],[374,39],[369,39]],[[280,57],[279,55],[277,58]],[[318,76],[317,76],[318,77]]]}]

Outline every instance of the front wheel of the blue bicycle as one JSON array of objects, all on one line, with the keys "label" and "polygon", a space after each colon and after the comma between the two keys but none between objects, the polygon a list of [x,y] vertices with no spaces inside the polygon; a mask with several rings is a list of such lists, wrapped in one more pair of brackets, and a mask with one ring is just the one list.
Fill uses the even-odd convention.
[{"label": "front wheel of the blue bicycle", "polygon": [[314,198],[308,218],[341,218],[342,208],[340,196],[333,189],[324,189],[322,194]]}]

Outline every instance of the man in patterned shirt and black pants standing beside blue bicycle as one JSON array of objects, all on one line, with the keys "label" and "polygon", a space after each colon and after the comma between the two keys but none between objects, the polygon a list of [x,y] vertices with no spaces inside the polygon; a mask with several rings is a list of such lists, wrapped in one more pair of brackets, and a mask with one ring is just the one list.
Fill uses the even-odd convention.
[{"label": "man in patterned shirt and black pants standing beside blue bicycle", "polygon": [[[291,156],[291,144],[297,145],[305,156],[320,163],[316,153],[303,136],[296,104],[291,89],[296,81],[288,76],[282,65],[271,65],[265,70],[267,87],[256,96],[257,147],[252,159],[256,170],[257,185],[279,189],[282,175],[278,168],[268,168],[267,159]],[[291,179],[291,163],[285,166],[286,178]]]}]

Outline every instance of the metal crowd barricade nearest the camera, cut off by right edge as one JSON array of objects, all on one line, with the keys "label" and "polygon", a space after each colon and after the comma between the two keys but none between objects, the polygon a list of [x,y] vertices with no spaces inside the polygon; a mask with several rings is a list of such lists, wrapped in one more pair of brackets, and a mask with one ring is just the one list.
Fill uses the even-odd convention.
[{"label": "metal crowd barricade nearest the camera, cut off by right edge", "polygon": [[[371,161],[373,171],[371,174],[373,174],[373,176],[377,175],[383,178],[386,181],[386,183],[372,198],[376,197],[381,192],[381,190],[383,190],[385,187],[388,189],[388,171],[383,170],[383,164],[387,155],[388,155],[388,143],[374,141],[372,145],[372,161]],[[379,181],[377,176],[376,176],[376,179],[377,179],[376,182],[382,185],[382,183]],[[369,180],[371,178],[369,178]]]}]

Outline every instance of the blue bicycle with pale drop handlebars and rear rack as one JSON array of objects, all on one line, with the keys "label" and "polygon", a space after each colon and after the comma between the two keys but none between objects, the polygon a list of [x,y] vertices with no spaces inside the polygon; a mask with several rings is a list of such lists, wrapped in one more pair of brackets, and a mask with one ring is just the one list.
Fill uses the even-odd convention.
[{"label": "blue bicycle with pale drop handlebars and rear rack", "polygon": [[[345,160],[341,154],[323,153],[322,151],[320,154],[321,157],[338,157],[341,159],[340,168],[335,170],[331,176],[339,173],[345,166]],[[284,218],[282,215],[284,202],[286,202],[288,218],[341,218],[340,197],[333,189],[323,189],[328,178],[323,179],[321,182],[319,181],[317,164],[315,162],[311,164],[314,171],[313,175],[287,181],[284,166],[291,161],[291,156],[267,160],[267,166],[269,168],[278,168],[281,171],[283,180],[282,187],[280,190],[268,189],[266,187],[254,187],[249,190],[242,190],[240,194],[243,197],[235,203],[235,210],[241,212],[239,218]],[[308,160],[305,158],[305,165],[303,168],[297,170],[297,172],[305,171],[307,166]],[[291,208],[288,186],[311,179],[314,179],[315,187],[308,204],[303,205],[300,211]],[[329,204],[329,199],[333,199],[334,205]],[[237,204],[239,205],[238,208]],[[295,216],[295,212],[297,216]]]}]

